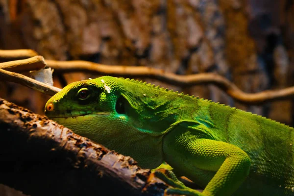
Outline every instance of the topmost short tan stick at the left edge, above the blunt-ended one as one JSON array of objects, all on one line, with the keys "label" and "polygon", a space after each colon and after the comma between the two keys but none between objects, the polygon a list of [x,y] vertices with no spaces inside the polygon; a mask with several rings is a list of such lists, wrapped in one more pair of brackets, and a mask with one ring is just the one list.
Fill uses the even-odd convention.
[{"label": "topmost short tan stick at the left edge, above the blunt-ended one", "polygon": [[38,53],[32,49],[0,49],[0,59],[24,59],[37,55]]}]

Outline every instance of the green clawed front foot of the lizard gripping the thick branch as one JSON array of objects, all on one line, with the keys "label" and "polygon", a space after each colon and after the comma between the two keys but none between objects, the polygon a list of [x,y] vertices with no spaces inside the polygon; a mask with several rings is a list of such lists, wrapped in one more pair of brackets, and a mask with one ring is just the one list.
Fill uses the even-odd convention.
[{"label": "green clawed front foot of the lizard gripping the thick branch", "polygon": [[154,175],[172,187],[165,190],[165,195],[203,196],[201,192],[186,187],[170,170],[158,169]]}]

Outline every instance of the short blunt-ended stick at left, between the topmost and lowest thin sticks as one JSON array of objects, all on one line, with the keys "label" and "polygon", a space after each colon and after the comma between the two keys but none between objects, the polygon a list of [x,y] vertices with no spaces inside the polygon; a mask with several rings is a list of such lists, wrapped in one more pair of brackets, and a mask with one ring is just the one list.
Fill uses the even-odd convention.
[{"label": "short blunt-ended stick at left, between the topmost and lowest thin sticks", "polygon": [[43,56],[34,56],[28,59],[0,63],[0,69],[10,72],[29,72],[40,70],[46,66]]}]

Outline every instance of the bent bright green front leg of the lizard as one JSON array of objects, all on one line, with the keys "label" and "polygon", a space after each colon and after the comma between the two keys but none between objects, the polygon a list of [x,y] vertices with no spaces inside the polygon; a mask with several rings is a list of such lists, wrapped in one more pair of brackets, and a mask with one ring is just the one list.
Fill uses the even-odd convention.
[{"label": "bent bright green front leg of the lizard", "polygon": [[[163,139],[164,158],[196,184],[205,187],[198,196],[230,196],[249,173],[249,156],[234,145],[199,138],[197,130],[178,130],[177,126]],[[196,128],[195,128],[196,129]],[[206,185],[206,186],[205,186]],[[187,189],[174,188],[168,194],[184,194]]]}]

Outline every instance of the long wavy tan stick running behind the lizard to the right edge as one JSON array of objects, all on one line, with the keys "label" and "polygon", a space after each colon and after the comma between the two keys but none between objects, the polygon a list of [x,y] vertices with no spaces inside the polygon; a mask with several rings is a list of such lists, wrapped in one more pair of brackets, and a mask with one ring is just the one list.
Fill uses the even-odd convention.
[{"label": "long wavy tan stick running behind the lizard to the right edge", "polygon": [[245,93],[225,77],[215,73],[199,73],[191,75],[177,75],[164,70],[149,67],[110,66],[88,61],[54,61],[46,60],[55,72],[90,72],[109,74],[122,77],[149,77],[178,86],[194,86],[199,84],[214,84],[237,101],[250,104],[261,104],[270,100],[294,97],[294,87],[281,90],[268,90],[260,93]]}]

